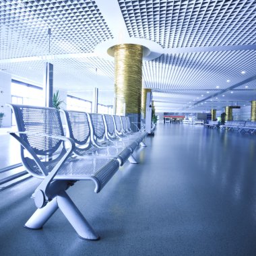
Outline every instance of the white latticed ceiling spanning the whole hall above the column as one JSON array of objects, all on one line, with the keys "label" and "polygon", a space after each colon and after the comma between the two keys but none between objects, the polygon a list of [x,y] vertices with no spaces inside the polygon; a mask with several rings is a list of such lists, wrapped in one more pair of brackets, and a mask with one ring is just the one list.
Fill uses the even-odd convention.
[{"label": "white latticed ceiling spanning the whole hall above the column", "polygon": [[160,46],[143,61],[157,111],[256,100],[255,0],[1,0],[0,25],[0,69],[42,83],[51,61],[56,88],[87,98],[98,87],[102,104],[113,104],[114,62],[97,49],[123,38]]}]

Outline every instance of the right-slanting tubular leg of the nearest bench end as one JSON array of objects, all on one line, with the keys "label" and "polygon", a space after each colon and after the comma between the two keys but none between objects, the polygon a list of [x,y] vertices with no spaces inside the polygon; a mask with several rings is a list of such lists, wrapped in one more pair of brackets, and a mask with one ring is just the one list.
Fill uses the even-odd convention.
[{"label": "right-slanting tubular leg of the nearest bench end", "polygon": [[80,238],[94,241],[100,239],[65,191],[57,195],[57,203]]}]

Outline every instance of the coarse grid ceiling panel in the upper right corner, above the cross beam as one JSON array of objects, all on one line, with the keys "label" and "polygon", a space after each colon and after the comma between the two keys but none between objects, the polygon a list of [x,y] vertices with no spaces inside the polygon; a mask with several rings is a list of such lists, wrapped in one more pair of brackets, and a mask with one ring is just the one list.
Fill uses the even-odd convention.
[{"label": "coarse grid ceiling panel in the upper right corner, above the cross beam", "polygon": [[131,37],[164,48],[255,44],[254,0],[119,0]]}]

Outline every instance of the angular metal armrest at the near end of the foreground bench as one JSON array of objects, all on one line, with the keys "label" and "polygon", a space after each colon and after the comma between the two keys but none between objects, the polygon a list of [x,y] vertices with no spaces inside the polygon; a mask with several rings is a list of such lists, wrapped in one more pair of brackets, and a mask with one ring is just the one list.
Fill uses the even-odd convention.
[{"label": "angular metal armrest at the near end of the foreground bench", "polygon": [[[24,139],[22,139],[22,137],[18,136],[16,133],[60,139],[62,141],[67,141],[69,143],[70,147],[67,148],[67,151],[61,157],[59,162],[57,162],[57,164],[55,165],[53,170],[47,174],[42,162],[40,161],[38,156],[34,153],[32,148],[28,145],[28,143],[26,143],[26,141],[24,141]],[[47,196],[47,190],[49,189],[49,185],[51,184],[51,181],[53,181],[53,179],[54,179],[55,175],[57,174],[59,168],[62,166],[62,164],[65,162],[65,160],[70,156],[70,154],[73,152],[73,150],[75,148],[75,143],[74,143],[73,139],[70,139],[68,137],[57,136],[57,135],[49,135],[49,134],[46,134],[46,133],[17,131],[17,132],[9,132],[9,134],[12,135],[15,139],[17,139],[21,143],[23,148],[28,150],[28,152],[31,154],[32,158],[34,158],[34,161],[38,165],[38,168],[40,168],[42,173],[45,175],[44,180],[42,181],[42,183],[40,183],[40,185],[38,186],[38,188],[36,189],[36,191],[32,195],[32,197],[34,197],[34,199],[35,199],[36,207],[38,207],[38,208],[44,207],[44,205],[46,205],[47,201],[51,200],[51,198],[49,198]]]}]

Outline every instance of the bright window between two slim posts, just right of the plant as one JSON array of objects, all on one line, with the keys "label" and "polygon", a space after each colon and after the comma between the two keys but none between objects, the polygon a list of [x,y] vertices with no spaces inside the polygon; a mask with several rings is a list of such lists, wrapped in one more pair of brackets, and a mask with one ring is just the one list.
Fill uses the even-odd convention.
[{"label": "bright window between two slim posts, just right of the plant", "polygon": [[89,100],[83,100],[71,95],[67,95],[67,110],[76,110],[91,113],[92,102]]}]

